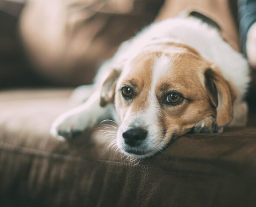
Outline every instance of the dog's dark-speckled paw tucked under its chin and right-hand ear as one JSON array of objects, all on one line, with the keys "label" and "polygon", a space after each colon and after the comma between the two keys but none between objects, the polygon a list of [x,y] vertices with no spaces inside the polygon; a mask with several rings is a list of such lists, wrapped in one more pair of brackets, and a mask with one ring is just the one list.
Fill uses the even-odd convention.
[{"label": "dog's dark-speckled paw tucked under its chin and right-hand ear", "polygon": [[213,133],[219,132],[213,116],[207,116],[194,126],[193,133]]}]

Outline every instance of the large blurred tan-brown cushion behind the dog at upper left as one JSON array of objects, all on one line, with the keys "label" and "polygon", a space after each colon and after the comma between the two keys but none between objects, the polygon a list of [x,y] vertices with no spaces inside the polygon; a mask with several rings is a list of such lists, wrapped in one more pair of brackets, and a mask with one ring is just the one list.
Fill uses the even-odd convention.
[{"label": "large blurred tan-brown cushion behind the dog at upper left", "polygon": [[162,0],[36,0],[20,19],[37,72],[61,85],[90,84],[119,44],[155,18]]}]

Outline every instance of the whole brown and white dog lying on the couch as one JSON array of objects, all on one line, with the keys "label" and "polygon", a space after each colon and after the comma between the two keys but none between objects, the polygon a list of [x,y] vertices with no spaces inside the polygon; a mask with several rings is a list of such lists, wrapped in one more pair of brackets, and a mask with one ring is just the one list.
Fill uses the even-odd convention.
[{"label": "whole brown and white dog lying on the couch", "polygon": [[121,44],[97,77],[94,93],[58,117],[52,135],[71,138],[112,114],[119,149],[142,158],[191,130],[222,132],[228,124],[246,124],[247,62],[198,19],[149,25]]}]

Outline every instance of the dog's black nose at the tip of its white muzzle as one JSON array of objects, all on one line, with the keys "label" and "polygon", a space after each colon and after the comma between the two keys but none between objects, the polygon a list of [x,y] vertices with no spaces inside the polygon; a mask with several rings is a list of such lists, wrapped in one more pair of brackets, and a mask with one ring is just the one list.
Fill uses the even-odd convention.
[{"label": "dog's black nose at the tip of its white muzzle", "polygon": [[148,132],[142,128],[129,129],[123,132],[124,142],[131,147],[141,144],[143,139],[146,139]]}]

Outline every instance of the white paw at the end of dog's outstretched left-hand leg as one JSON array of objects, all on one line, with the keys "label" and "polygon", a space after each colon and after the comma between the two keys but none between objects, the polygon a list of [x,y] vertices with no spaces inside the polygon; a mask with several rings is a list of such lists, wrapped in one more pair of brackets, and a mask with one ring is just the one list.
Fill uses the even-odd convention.
[{"label": "white paw at the end of dog's outstretched left-hand leg", "polygon": [[90,113],[88,116],[82,116],[79,113],[64,113],[59,116],[52,123],[50,133],[52,136],[59,138],[60,140],[72,139],[76,135],[83,132],[95,125],[96,120],[91,119]]}]

